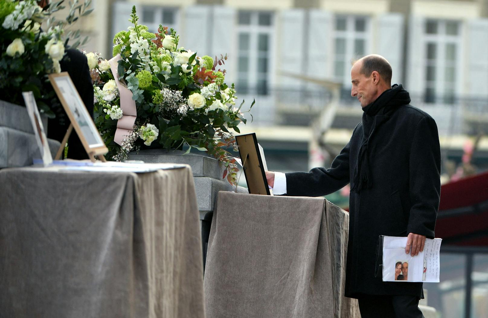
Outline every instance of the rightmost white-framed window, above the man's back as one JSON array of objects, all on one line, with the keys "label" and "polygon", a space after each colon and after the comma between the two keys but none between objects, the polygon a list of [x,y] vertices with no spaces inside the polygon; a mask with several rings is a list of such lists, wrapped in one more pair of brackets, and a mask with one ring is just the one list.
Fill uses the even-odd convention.
[{"label": "rightmost white-framed window, above the man's back", "polygon": [[426,20],[425,95],[426,103],[452,104],[457,93],[456,73],[460,60],[460,23],[451,20]]}]

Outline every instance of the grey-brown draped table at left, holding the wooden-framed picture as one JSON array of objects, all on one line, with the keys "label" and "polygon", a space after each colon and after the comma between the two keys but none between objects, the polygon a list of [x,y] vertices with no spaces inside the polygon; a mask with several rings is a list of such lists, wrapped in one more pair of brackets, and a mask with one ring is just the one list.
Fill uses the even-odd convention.
[{"label": "grey-brown draped table at left, holding the wooden-framed picture", "polygon": [[0,317],[204,317],[189,166],[0,170]]}]

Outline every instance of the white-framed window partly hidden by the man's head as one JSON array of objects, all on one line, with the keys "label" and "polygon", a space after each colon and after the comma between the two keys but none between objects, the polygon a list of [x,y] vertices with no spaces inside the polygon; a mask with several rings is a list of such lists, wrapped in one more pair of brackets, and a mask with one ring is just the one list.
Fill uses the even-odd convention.
[{"label": "white-framed window partly hidden by the man's head", "polygon": [[366,55],[369,46],[370,20],[365,16],[335,16],[333,76],[351,86],[351,60]]}]

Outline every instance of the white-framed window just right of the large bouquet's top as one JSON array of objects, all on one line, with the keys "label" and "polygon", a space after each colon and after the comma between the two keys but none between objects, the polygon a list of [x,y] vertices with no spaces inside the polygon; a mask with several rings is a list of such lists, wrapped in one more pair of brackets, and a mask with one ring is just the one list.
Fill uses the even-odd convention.
[{"label": "white-framed window just right of the large bouquet's top", "polygon": [[274,16],[271,12],[240,11],[236,89],[241,94],[267,95],[273,46]]}]

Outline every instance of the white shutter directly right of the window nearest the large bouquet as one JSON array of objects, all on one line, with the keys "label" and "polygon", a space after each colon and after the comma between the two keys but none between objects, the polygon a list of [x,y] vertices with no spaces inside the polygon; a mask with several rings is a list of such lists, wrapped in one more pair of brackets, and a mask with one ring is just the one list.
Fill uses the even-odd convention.
[{"label": "white shutter directly right of the window nearest the large bouquet", "polygon": [[291,9],[281,11],[276,30],[278,34],[277,72],[282,87],[297,87],[298,80],[290,76],[280,75],[281,72],[303,75],[304,44],[305,44],[305,10]]}]

